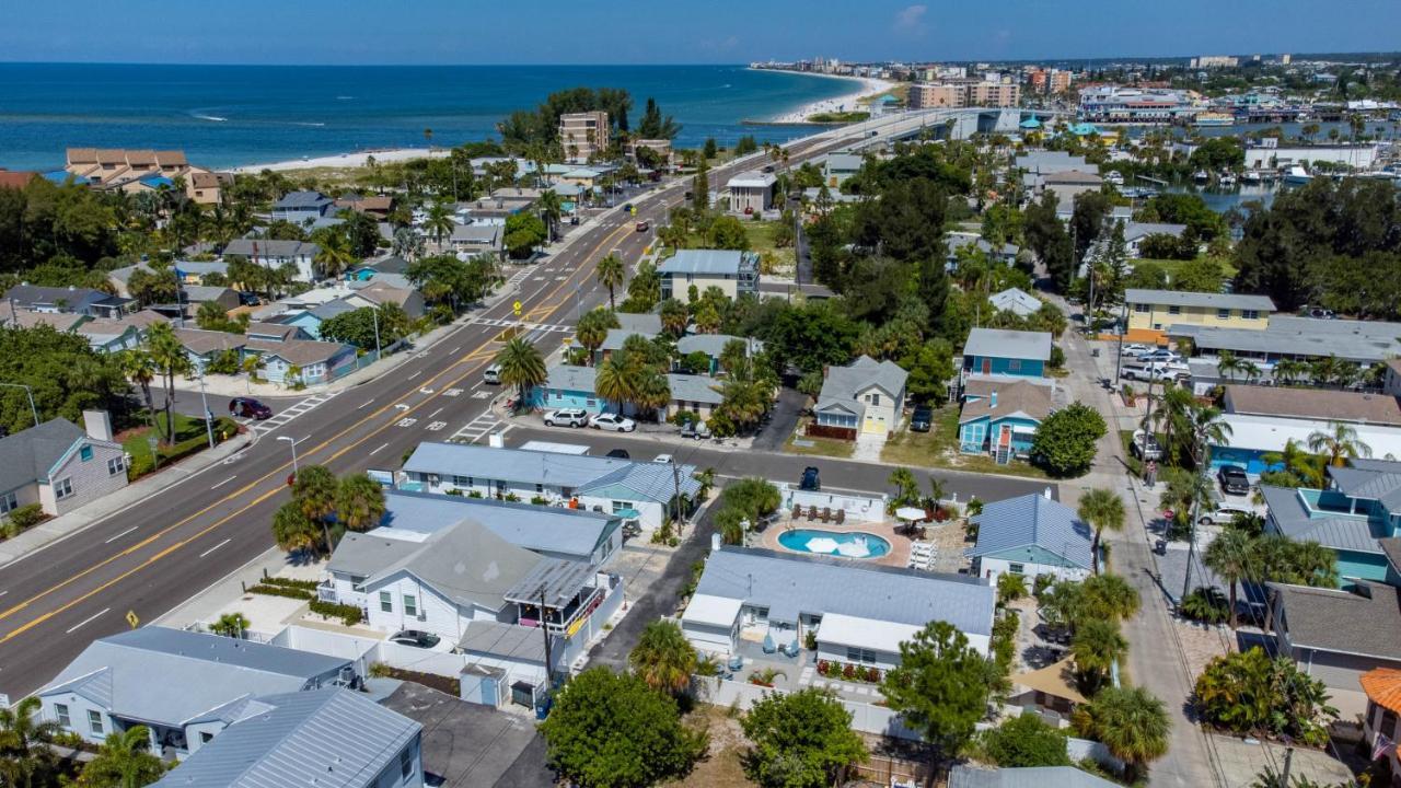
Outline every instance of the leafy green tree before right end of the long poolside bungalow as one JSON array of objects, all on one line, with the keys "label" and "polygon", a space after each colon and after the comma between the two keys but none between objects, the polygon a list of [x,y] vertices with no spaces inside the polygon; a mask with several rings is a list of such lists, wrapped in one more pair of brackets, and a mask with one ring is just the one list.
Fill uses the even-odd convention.
[{"label": "leafy green tree before right end of the long poolside bungalow", "polygon": [[899,644],[899,658],[885,672],[881,695],[940,754],[957,756],[988,712],[993,667],[947,621],[932,621]]}]

